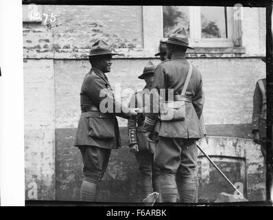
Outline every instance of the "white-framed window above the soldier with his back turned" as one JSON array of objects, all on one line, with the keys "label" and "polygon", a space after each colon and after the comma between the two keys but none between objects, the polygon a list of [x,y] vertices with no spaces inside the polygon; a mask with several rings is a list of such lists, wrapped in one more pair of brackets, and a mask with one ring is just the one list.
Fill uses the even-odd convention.
[{"label": "white-framed window above the soldier with his back turned", "polygon": [[233,8],[163,6],[163,38],[184,27],[193,47],[233,47]]}]

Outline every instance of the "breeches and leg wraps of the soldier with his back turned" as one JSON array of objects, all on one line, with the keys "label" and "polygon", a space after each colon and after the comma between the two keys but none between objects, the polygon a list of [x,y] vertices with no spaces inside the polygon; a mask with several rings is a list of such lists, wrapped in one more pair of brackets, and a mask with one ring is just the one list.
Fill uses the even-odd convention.
[{"label": "breeches and leg wraps of the soldier with his back turned", "polygon": [[160,168],[163,202],[197,202],[198,177],[196,140],[158,137],[154,162]]}]

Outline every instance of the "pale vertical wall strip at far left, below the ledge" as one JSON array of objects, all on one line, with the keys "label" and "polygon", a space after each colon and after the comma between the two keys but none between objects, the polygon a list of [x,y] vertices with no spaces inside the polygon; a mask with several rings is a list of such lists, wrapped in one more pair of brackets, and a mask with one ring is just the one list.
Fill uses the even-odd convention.
[{"label": "pale vertical wall strip at far left, below the ledge", "polygon": [[[26,198],[55,198],[53,60],[24,61]],[[37,184],[38,193],[30,193]],[[35,186],[36,187],[36,186]]]}]

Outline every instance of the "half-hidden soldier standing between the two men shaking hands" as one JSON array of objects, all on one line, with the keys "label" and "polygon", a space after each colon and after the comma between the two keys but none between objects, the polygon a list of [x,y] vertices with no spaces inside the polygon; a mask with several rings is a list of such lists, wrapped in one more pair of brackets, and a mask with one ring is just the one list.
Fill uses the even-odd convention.
[{"label": "half-hidden soldier standing between the two men shaking hands", "polygon": [[[145,65],[143,74],[141,74],[139,78],[145,80],[146,85],[143,91],[139,91],[132,95],[130,107],[139,107],[143,109],[148,104],[155,68],[156,66],[151,61]],[[152,143],[147,140],[145,130],[143,129],[144,119],[145,112],[139,113],[137,118],[130,118],[128,120],[129,146],[131,151],[136,154],[137,162],[139,164],[143,199],[152,192],[160,192],[160,182],[158,181],[159,169],[154,166]],[[152,198],[148,198],[146,202],[153,202],[151,199]],[[157,201],[160,202],[160,200],[160,197],[158,197]]]}]

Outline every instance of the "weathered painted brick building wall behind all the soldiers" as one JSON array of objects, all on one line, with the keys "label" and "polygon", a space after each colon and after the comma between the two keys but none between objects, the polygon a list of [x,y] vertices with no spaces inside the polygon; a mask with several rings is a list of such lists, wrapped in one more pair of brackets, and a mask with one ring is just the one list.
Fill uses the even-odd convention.
[{"label": "weathered painted brick building wall behind all the soldiers", "polygon": [[[26,7],[23,5],[26,198],[78,200],[82,161],[73,137],[80,117],[80,86],[90,68],[84,55],[96,39],[104,39],[121,53],[108,74],[111,85],[141,89],[144,82],[137,76],[145,64],[159,63],[154,54],[162,37],[161,7],[39,5],[38,12],[54,13],[54,23],[49,19],[29,22]],[[250,140],[250,122],[254,85],[265,77],[265,64],[260,60],[265,55],[265,10],[244,9],[242,30],[243,47],[196,48],[187,56],[202,73],[208,135],[235,137],[233,142],[238,137],[248,139],[242,147],[252,154],[224,163],[237,163],[237,171],[252,173],[238,178],[249,181],[246,195],[259,200],[264,195],[263,163],[259,146]],[[126,100],[126,94],[119,96]],[[119,119],[123,146],[127,146],[126,124]],[[221,146],[219,139],[217,143],[213,149]],[[219,160],[219,155],[213,155]],[[207,163],[202,155],[199,162]],[[251,164],[249,170],[247,164]],[[100,188],[100,201],[139,201],[139,172],[127,147],[112,151]],[[205,191],[209,189],[200,190],[200,198],[214,199],[215,195],[209,198]]]}]

